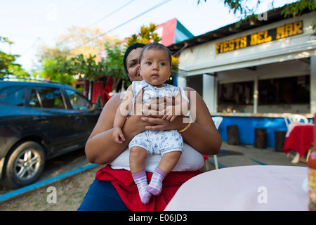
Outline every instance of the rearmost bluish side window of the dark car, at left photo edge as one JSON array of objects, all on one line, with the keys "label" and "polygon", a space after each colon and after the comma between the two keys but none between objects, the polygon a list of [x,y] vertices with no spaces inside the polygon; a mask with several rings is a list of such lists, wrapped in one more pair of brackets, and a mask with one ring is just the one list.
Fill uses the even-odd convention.
[{"label": "rearmost bluish side window of the dark car, at left photo edge", "polygon": [[7,86],[0,90],[0,104],[24,106],[27,86]]}]

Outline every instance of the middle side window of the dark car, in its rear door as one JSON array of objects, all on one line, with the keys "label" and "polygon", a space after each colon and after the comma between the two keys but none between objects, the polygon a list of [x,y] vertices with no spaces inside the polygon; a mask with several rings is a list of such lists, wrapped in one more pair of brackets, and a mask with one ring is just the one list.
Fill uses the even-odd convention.
[{"label": "middle side window of the dark car, in its rear door", "polygon": [[43,108],[65,108],[60,89],[49,86],[36,86],[32,89],[29,106]]}]

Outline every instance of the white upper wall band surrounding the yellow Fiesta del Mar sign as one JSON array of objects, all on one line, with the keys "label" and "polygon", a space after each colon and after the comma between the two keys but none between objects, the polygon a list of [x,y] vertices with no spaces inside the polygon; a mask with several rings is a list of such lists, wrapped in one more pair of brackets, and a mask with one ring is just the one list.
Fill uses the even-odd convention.
[{"label": "white upper wall band surrounding the yellow Fiesta del Mar sign", "polygon": [[[311,24],[314,18],[316,18],[316,11],[185,49],[180,53],[179,68],[187,71],[187,75],[199,75],[316,56],[316,43],[309,40],[313,33]],[[216,43],[218,42],[236,39],[300,20],[303,20],[303,34],[216,54]]]}]

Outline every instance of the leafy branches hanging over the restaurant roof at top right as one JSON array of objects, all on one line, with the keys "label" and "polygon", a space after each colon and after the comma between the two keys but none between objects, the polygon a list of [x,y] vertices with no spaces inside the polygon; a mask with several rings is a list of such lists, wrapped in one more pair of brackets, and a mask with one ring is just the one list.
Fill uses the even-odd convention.
[{"label": "leafy branches hanging over the restaurant roof at top right", "polygon": [[[207,0],[204,0],[206,2]],[[258,9],[260,4],[263,4],[263,1],[257,0],[255,6],[249,6],[249,2],[247,0],[221,0],[224,2],[225,6],[230,8],[235,15],[239,13],[241,15],[242,20],[248,20],[249,18],[257,18],[254,12]],[[201,0],[197,0],[197,4],[200,4]],[[274,8],[274,1],[270,0],[268,4],[270,4],[270,8]],[[264,1],[264,4],[267,4],[267,1]],[[290,16],[301,15],[305,9],[309,9],[310,11],[314,11],[316,9],[316,1],[315,0],[299,0],[291,4],[285,4],[284,10],[281,12],[281,15],[284,15],[284,18],[289,18]],[[237,23],[238,25],[238,23]],[[315,30],[316,28],[316,19],[312,22],[312,27]]]}]

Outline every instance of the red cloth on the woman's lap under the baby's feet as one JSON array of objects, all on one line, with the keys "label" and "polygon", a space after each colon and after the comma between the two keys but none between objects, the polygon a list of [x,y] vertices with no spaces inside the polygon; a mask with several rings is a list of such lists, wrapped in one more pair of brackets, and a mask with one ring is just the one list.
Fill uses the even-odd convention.
[{"label": "red cloth on the woman's lap under the baby's feet", "polygon": [[[162,211],[185,181],[201,173],[200,171],[169,173],[162,183],[162,193],[157,196],[152,195],[150,202],[147,204],[143,204],[140,201],[138,188],[129,170],[112,169],[110,165],[106,165],[96,172],[96,179],[111,181],[117,193],[119,193],[121,200],[123,200],[126,207],[131,211]],[[146,174],[149,183],[152,173],[146,172]]]}]

